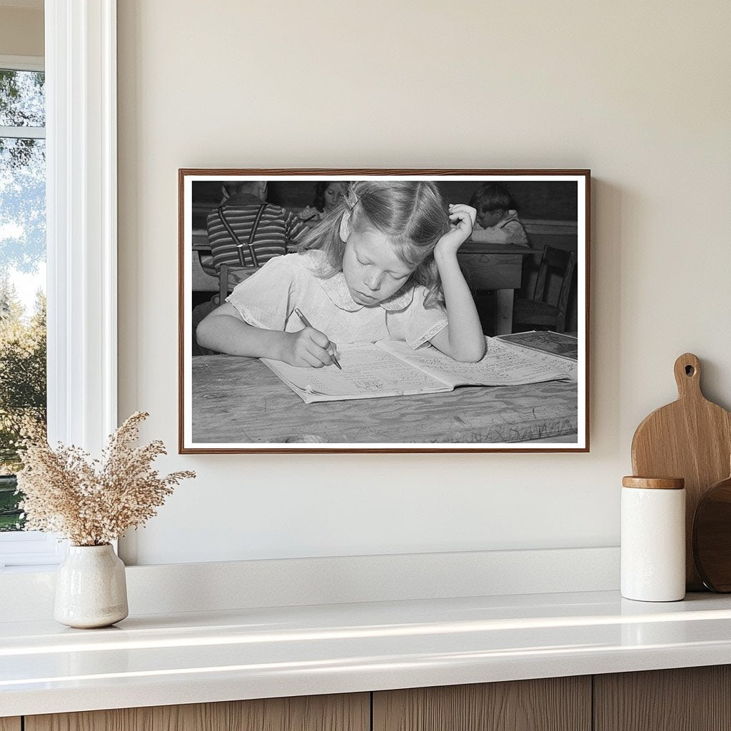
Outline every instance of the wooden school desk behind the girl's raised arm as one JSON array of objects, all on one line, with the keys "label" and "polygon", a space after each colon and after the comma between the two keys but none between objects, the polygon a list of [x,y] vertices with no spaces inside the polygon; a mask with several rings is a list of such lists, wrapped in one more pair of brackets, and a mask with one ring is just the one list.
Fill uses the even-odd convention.
[{"label": "wooden school desk behind the girl's raised arm", "polygon": [[458,252],[461,268],[472,292],[494,290],[497,298],[496,335],[512,333],[515,290],[523,282],[523,257],[535,254],[529,246],[466,241]]}]

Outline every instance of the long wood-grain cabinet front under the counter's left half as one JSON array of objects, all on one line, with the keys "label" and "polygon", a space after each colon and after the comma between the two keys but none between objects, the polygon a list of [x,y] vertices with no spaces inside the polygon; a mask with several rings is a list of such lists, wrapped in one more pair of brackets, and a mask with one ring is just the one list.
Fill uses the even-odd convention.
[{"label": "long wood-grain cabinet front under the counter's left half", "polygon": [[368,693],[26,716],[25,731],[369,731]]}]

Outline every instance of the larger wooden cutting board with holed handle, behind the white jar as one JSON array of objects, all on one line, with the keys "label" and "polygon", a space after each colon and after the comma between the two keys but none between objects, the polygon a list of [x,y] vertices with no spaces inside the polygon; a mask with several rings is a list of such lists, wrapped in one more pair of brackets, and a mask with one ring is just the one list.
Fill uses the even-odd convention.
[{"label": "larger wooden cutting board with holed handle, behind the white jar", "polygon": [[700,361],[683,353],[675,361],[678,401],[661,406],[632,437],[632,471],[637,477],[684,477],[686,481],[686,585],[702,591],[693,563],[693,516],[708,488],[728,476],[731,413],[700,390]]}]

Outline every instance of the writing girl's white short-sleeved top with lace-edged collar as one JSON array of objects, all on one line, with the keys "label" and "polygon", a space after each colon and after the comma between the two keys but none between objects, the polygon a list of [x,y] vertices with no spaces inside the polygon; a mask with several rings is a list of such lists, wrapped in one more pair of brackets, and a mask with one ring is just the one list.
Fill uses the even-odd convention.
[{"label": "writing girl's white short-sleeved top with lace-edged collar", "polygon": [[304,327],[295,314],[298,307],[336,344],[401,340],[417,348],[447,325],[444,308],[424,306],[427,289],[420,284],[366,307],[350,296],[342,272],[317,276],[324,268],[322,251],[276,257],[238,284],[226,301],[249,325],[290,333]]}]

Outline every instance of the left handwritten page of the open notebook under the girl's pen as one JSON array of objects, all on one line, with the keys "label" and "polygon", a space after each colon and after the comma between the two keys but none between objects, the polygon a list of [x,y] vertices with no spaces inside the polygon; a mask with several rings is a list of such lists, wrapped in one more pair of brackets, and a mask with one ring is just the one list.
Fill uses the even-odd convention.
[{"label": "left handwritten page of the open notebook under the girl's pen", "polygon": [[342,371],[336,366],[298,368],[268,358],[262,358],[262,363],[308,403],[451,390],[372,343],[343,345],[338,360]]}]

